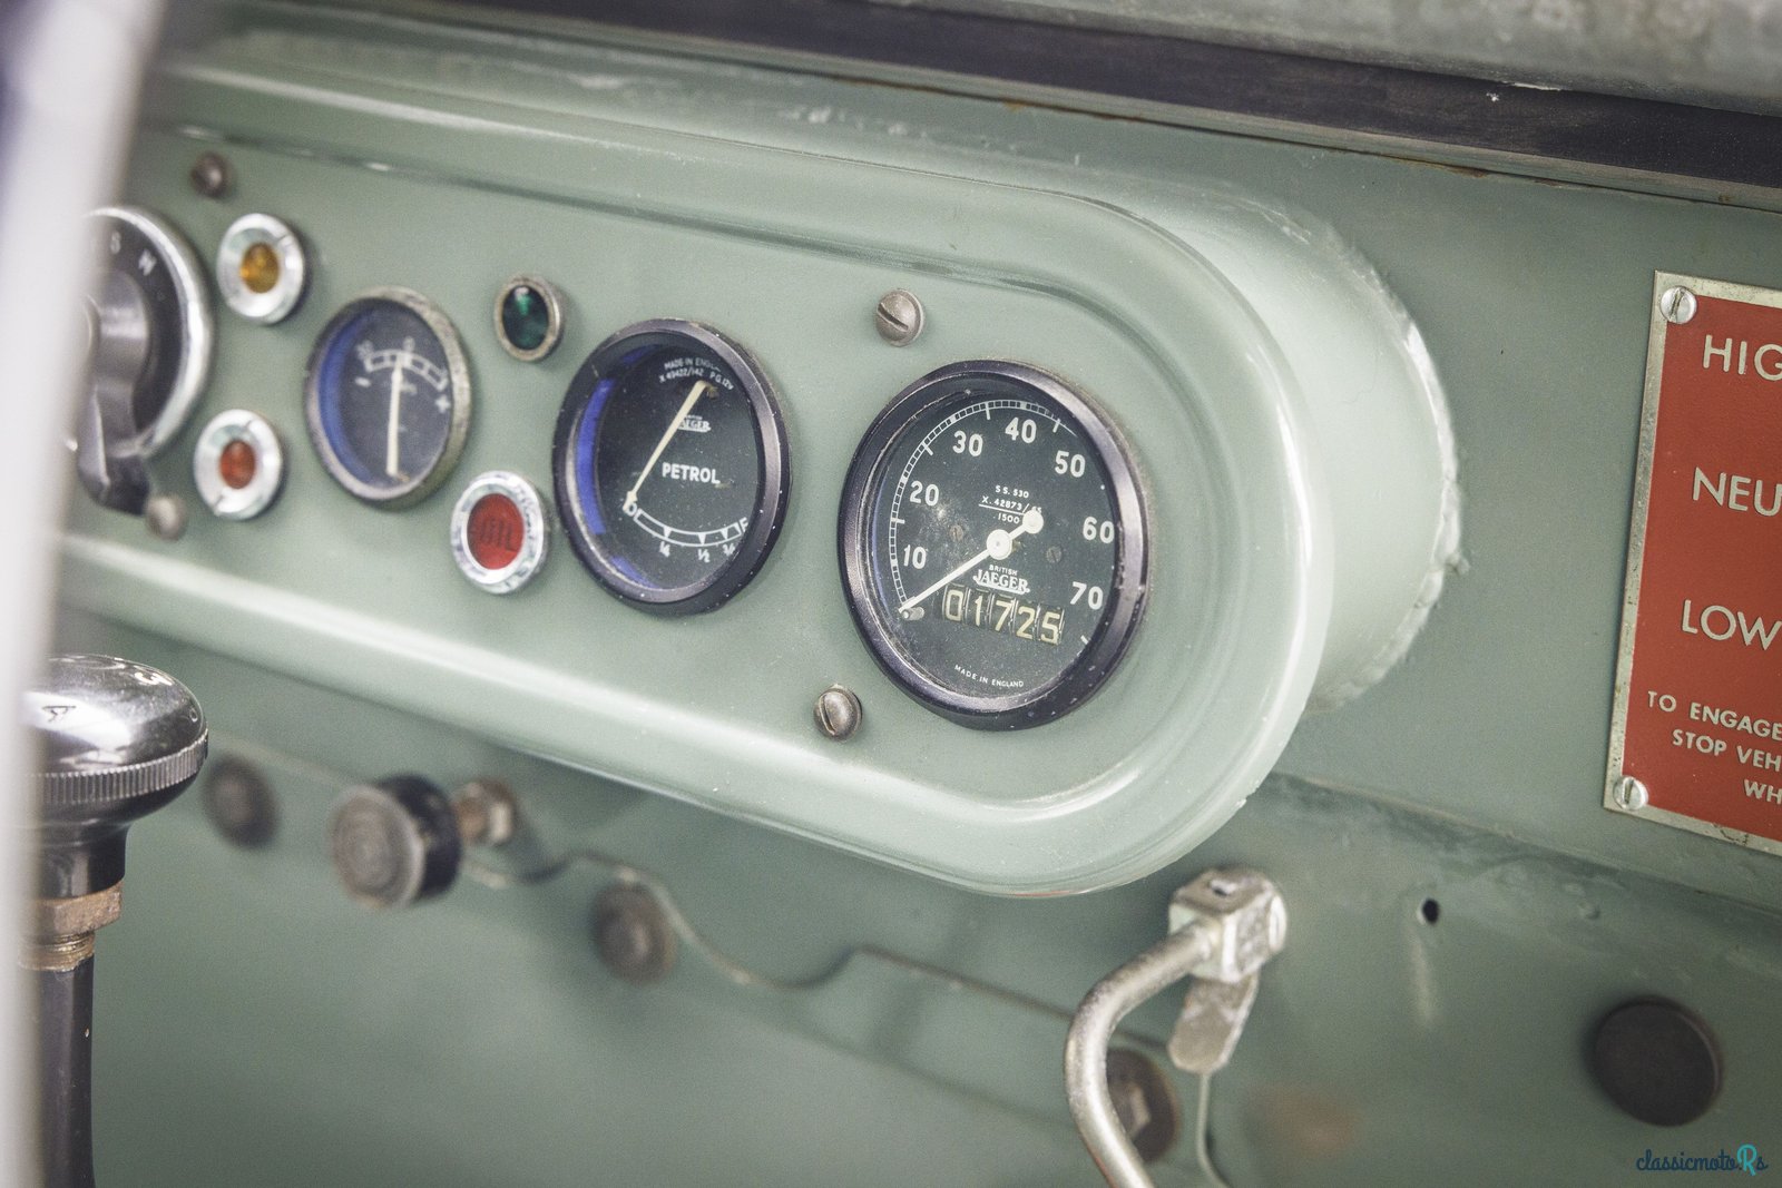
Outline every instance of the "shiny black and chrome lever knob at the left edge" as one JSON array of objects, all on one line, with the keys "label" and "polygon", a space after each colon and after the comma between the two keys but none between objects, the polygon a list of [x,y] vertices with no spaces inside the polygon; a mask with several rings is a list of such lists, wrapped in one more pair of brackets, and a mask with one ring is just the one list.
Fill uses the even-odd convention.
[{"label": "shiny black and chrome lever knob at the left edge", "polygon": [[39,743],[37,894],[87,896],[123,880],[125,832],[178,796],[208,746],[184,684],[110,655],[55,655],[25,691]]}]

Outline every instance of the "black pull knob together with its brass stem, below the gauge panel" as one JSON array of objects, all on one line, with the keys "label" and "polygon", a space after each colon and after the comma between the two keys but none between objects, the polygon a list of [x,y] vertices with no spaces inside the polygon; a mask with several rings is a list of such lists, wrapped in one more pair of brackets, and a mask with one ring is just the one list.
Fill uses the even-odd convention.
[{"label": "black pull knob together with its brass stem, below the gauge panel", "polygon": [[474,780],[451,798],[419,775],[356,784],[335,803],[328,844],[346,892],[369,908],[396,908],[444,894],[465,846],[513,835],[506,785]]}]

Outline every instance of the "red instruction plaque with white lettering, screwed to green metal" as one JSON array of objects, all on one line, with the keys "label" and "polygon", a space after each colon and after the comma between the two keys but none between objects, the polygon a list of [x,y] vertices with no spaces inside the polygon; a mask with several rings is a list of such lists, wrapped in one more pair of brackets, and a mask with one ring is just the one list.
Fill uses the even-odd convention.
[{"label": "red instruction plaque with white lettering, screwed to green metal", "polygon": [[1782,853],[1782,292],[1655,280],[1604,805]]}]

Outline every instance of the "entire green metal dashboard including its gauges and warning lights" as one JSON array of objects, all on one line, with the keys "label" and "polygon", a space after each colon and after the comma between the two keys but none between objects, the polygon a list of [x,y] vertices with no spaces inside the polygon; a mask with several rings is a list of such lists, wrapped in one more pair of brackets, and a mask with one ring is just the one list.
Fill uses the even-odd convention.
[{"label": "entire green metal dashboard including its gauges and warning lights", "polygon": [[[1704,187],[485,9],[189,20],[89,219],[59,645],[178,673],[235,784],[132,842],[102,1170],[208,1183],[221,1110],[216,1183],[1094,1183],[1069,1008],[1221,864],[1292,930],[1219,1092],[1160,1074],[1210,1110],[1160,1183],[1775,1143],[1778,834],[1623,787],[1664,294],[1782,283],[1773,191]],[[481,885],[333,887],[392,773],[517,798]],[[597,869],[672,974],[584,942]],[[1588,1054],[1648,999],[1718,1035],[1682,1129]]]}]

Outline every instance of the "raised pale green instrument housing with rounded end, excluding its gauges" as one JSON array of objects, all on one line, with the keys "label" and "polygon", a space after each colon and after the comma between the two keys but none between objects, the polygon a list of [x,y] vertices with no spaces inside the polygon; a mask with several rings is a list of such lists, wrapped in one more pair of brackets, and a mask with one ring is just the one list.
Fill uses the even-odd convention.
[{"label": "raised pale green instrument housing with rounded end, excluding its gauges", "polygon": [[[175,59],[150,105],[135,201],[200,242],[241,210],[280,210],[312,244],[294,317],[225,324],[203,410],[262,413],[294,438],[292,465],[282,504],[246,531],[200,517],[169,549],[119,549],[116,524],[77,518],[80,606],[225,634],[310,680],[1014,894],[1085,891],[1180,855],[1256,787],[1308,696],[1365,686],[1358,673],[1402,647],[1440,566],[1443,413],[1399,312],[1328,232],[1205,182],[1021,176],[994,157],[966,173],[950,153],[761,144],[772,126],[695,135],[640,112],[624,77],[535,77],[511,48],[469,39],[446,61],[486,57],[462,84],[403,28],[353,32],[223,37]],[[592,55],[583,71],[611,66]],[[707,100],[740,91],[759,107],[740,84]],[[208,144],[241,176],[226,203],[185,180]],[[488,349],[488,306],[522,269],[570,303],[565,342],[538,367]],[[296,415],[317,331],[381,285],[458,319],[481,394],[456,484],[399,515],[335,488]],[[900,285],[932,328],[891,349],[870,312]],[[1329,330],[1299,294],[1329,308]],[[577,362],[663,315],[720,328],[781,390],[793,492],[761,574],[722,613],[683,620],[617,604],[567,554],[513,598],[469,590],[442,547],[451,493],[486,468],[549,486]],[[836,572],[861,433],[907,383],[962,358],[1083,385],[1133,442],[1149,497],[1139,645],[1101,696],[1042,730],[959,730],[905,698],[868,659]],[[1356,381],[1322,390],[1329,363]],[[178,463],[164,470],[187,490]],[[1051,527],[1066,547],[1069,531]],[[809,721],[836,682],[866,704],[846,750]]]}]

